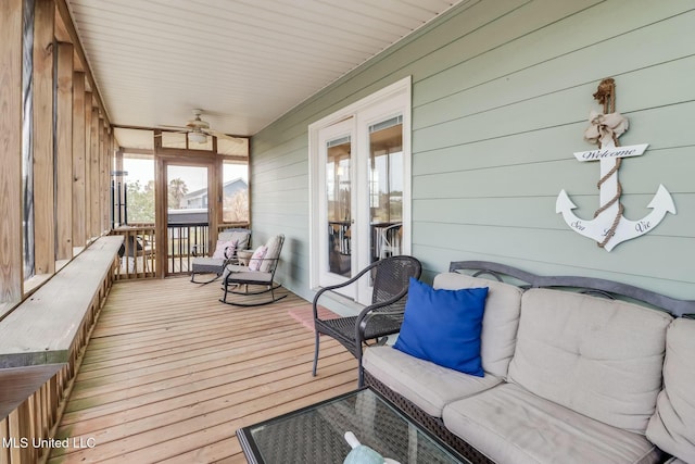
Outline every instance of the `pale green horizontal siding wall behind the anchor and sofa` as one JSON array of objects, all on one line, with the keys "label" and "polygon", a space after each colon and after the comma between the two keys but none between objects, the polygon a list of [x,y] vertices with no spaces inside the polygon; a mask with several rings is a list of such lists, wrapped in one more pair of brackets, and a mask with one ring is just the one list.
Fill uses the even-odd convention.
[{"label": "pale green horizontal siding wall behind the anchor and sofa", "polygon": [[[307,126],[413,76],[413,254],[426,278],[452,260],[492,260],[540,274],[611,278],[695,298],[695,10],[654,2],[466,2],[298,105],[252,140],[254,234],[288,236],[279,278],[308,288]],[[622,145],[624,215],[637,220],[659,184],[677,215],[611,252],[555,213],[565,189],[590,218],[598,163],[572,153],[592,93],[615,77],[630,118]]]}]

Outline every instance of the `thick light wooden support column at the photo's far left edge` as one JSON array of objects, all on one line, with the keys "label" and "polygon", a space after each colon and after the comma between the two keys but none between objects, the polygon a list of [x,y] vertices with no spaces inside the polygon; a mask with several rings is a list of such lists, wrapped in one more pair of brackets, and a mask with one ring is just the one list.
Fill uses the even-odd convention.
[{"label": "thick light wooden support column at the photo's far left edge", "polygon": [[23,292],[22,3],[0,1],[0,314]]}]

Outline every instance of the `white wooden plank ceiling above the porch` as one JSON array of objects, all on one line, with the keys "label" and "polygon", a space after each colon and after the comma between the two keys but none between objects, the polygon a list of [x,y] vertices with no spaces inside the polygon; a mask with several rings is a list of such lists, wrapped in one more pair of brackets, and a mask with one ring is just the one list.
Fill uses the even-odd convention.
[{"label": "white wooden plank ceiling above the porch", "polygon": [[460,1],[66,3],[112,124],[249,136]]}]

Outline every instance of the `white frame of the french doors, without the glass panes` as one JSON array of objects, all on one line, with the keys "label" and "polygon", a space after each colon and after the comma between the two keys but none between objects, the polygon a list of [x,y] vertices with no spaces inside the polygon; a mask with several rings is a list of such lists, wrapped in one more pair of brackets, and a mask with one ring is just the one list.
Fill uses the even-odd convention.
[{"label": "white frame of the french doors, without the glass panes", "polygon": [[[410,253],[410,178],[412,178],[412,146],[410,146],[410,102],[412,102],[412,78],[405,77],[362,100],[352,103],[337,112],[311,124],[308,126],[308,150],[309,150],[309,285],[313,289],[319,288],[319,276],[321,272],[320,244],[321,237],[326,235],[325,224],[319,221],[320,208],[325,208],[325,191],[321,187],[325,184],[325,163],[320,159],[319,131],[342,121],[353,118],[356,140],[353,147],[358,151],[369,150],[369,139],[364,133],[368,125],[388,117],[390,114],[399,113],[403,116],[403,156],[404,156],[404,191],[403,191],[403,238],[402,252]],[[355,158],[356,160],[356,158]],[[357,164],[357,163],[353,163]],[[368,187],[366,170],[367,166],[356,166],[359,172],[355,172],[354,179],[357,181],[357,203],[368,203]],[[364,200],[364,202],[363,202]],[[353,208],[356,212],[355,223],[364,226],[369,223],[368,209]],[[325,241],[325,240],[324,240]],[[368,259],[368,247],[357,246],[353,249],[357,253],[357,262],[365,263]],[[325,267],[325,266],[324,266]],[[364,267],[364,265],[363,265]],[[353,266],[353,273],[359,268]],[[359,296],[358,296],[359,297]],[[358,298],[359,299],[359,298]]]}]

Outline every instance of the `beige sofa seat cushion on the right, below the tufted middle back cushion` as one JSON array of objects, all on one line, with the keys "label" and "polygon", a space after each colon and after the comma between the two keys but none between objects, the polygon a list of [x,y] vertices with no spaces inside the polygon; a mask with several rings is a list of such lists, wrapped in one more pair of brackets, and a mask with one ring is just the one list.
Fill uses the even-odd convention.
[{"label": "beige sofa seat cushion on the right, below the tufted middle back cushion", "polygon": [[444,407],[444,425],[500,464],[654,463],[660,452],[621,430],[502,384]]}]

